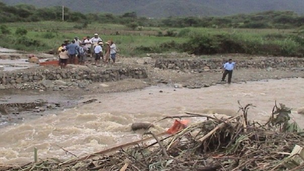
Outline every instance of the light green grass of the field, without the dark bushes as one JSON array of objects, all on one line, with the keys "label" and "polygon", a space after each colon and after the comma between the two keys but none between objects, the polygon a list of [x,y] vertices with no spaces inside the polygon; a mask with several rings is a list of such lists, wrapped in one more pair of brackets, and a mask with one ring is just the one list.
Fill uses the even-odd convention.
[{"label": "light green grass of the field, without the dark bushes", "polygon": [[[6,23],[5,25],[11,30],[11,34],[0,35],[0,40],[9,39],[12,41],[9,41],[10,43],[7,43],[7,41],[0,41],[0,46],[37,52],[47,52],[51,49],[57,49],[65,39],[72,40],[75,36],[78,36],[80,39],[85,36],[92,37],[94,33],[100,34],[100,37],[104,41],[113,40],[119,47],[120,54],[124,56],[142,56],[145,53],[146,47],[150,47],[148,50],[149,52],[171,52],[179,48],[170,47],[159,49],[160,45],[173,41],[176,44],[185,44],[191,41],[191,39],[200,35],[205,35],[207,37],[212,37],[214,35],[230,35],[230,37],[234,38],[235,40],[250,42],[252,46],[255,44],[275,44],[282,47],[288,46],[289,49],[294,49],[299,46],[299,44],[288,38],[295,32],[295,30],[233,28],[215,29],[193,27],[144,27],[140,28],[140,30],[132,30],[124,25],[89,24],[86,28],[80,28],[79,26],[82,26],[80,23],[51,21],[36,23]],[[20,36],[15,35],[17,28],[26,29],[28,31],[26,37],[31,39],[29,41],[37,40],[40,44],[34,42],[33,45],[26,46],[23,45],[23,43],[18,43],[24,41],[18,41],[18,37]],[[117,32],[120,34],[116,35]],[[166,34],[169,33],[174,35],[166,36]],[[257,53],[259,53],[259,51],[257,51]]]}]

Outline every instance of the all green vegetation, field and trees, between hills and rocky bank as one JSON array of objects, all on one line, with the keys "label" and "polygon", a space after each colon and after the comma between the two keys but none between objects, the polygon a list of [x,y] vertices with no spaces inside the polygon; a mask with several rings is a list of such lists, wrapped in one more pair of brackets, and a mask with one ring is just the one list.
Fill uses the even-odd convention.
[{"label": "all green vegetation, field and trees, between hills and rocky bank", "polygon": [[170,51],[198,55],[304,54],[304,16],[293,12],[148,19],[134,12],[115,16],[65,9],[66,22],[60,22],[61,7],[36,9],[0,4],[0,10],[0,21],[5,22],[0,24],[0,46],[18,50],[46,52],[56,49],[64,39],[97,32],[104,40],[114,40],[121,54],[131,56]]}]

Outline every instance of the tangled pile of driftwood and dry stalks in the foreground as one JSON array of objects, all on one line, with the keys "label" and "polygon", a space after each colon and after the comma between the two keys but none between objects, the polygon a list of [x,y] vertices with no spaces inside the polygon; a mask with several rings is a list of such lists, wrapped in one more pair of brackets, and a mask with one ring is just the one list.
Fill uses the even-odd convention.
[{"label": "tangled pile of driftwood and dry stalks in the foreground", "polygon": [[269,121],[260,124],[247,120],[250,107],[240,107],[241,114],[229,119],[186,113],[176,117],[207,120],[181,126],[173,134],[148,132],[148,139],[154,139],[149,143],[131,142],[68,161],[48,159],[7,170],[304,170],[304,133],[290,123],[290,109],[275,105]]}]

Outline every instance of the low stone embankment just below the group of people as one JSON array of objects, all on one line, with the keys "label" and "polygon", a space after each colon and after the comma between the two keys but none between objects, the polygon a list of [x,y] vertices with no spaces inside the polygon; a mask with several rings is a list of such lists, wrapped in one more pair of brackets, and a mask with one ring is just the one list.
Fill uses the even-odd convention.
[{"label": "low stone embankment just below the group of people", "polygon": [[[60,69],[38,67],[11,72],[0,72],[0,89],[58,89],[60,86],[85,88],[92,82],[109,82],[126,78],[147,78],[144,68],[134,67],[87,67]],[[56,86],[58,85],[58,86]]]}]

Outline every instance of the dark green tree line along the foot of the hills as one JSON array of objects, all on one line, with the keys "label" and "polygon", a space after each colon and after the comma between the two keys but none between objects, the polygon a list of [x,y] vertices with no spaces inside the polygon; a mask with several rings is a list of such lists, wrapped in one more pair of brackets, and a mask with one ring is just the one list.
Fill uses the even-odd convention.
[{"label": "dark green tree line along the foot of the hills", "polygon": [[[0,2],[0,23],[61,21],[62,7],[36,8],[32,5],[7,6]],[[298,28],[304,16],[291,11],[268,11],[255,14],[238,14],[226,17],[168,17],[153,19],[138,17],[135,12],[123,15],[83,14],[64,8],[64,20],[78,23],[122,24],[132,29],[142,27],[209,27],[209,28]]]}]

